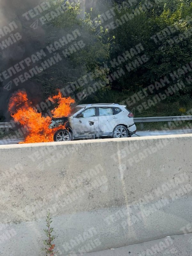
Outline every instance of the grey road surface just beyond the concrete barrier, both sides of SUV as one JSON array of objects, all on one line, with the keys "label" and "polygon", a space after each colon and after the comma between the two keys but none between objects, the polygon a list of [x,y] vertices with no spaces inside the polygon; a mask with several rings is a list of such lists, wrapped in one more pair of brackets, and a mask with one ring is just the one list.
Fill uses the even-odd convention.
[{"label": "grey road surface just beyond the concrete barrier, both sides of SUV", "polygon": [[[169,131],[144,131],[144,132],[136,132],[136,134],[141,137],[145,136],[157,136],[157,135],[170,135],[170,134],[187,134],[192,133],[192,129],[185,130],[169,130]],[[132,135],[132,137],[137,137],[137,135]],[[0,140],[0,145],[10,145],[10,144],[18,144],[21,139],[16,140]]]}]

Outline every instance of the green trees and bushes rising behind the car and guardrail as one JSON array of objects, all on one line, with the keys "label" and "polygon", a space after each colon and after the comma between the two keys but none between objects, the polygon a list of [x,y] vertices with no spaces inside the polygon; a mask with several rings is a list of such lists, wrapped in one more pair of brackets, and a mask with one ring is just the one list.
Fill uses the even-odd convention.
[{"label": "green trees and bushes rising behind the car and guardrail", "polygon": [[[79,2],[76,4],[66,2],[64,6],[62,0],[53,1],[52,10],[63,6],[65,11],[47,23],[46,27],[49,32],[46,35],[46,43],[51,44],[63,35],[71,34],[78,29],[81,33],[78,39],[82,40],[85,45],[79,51],[53,65],[49,71],[45,70],[36,77],[36,81],[43,85],[45,98],[53,94],[55,89],[70,85],[90,72],[92,72],[92,83],[80,86],[72,94],[73,97],[77,92],[82,92],[97,81],[103,82],[105,86],[89,95],[82,103],[104,101],[120,103],[133,93],[160,81],[164,76],[168,77],[169,84],[154,91],[154,94],[149,94],[148,99],[155,94],[164,93],[167,87],[174,86],[178,81],[173,81],[170,73],[191,61],[192,3],[190,0],[152,0],[152,6],[145,8],[145,2],[145,0],[135,1],[135,4],[129,6],[121,0],[114,2],[98,0],[97,8],[91,8],[90,12],[83,13]],[[117,19],[121,20],[122,16],[127,13],[135,15],[115,29],[105,29],[105,25],[112,20],[102,23],[100,14],[112,7],[115,7],[113,8],[114,22]],[[172,31],[169,28],[172,28]],[[58,33],[58,31],[63,32]],[[161,40],[158,38],[158,33],[163,35]],[[187,38],[184,38],[184,35],[188,35]],[[176,41],[178,38],[180,40]],[[114,82],[109,82],[108,74],[117,71],[117,68],[111,65],[110,60],[117,59],[119,55],[122,56],[122,53],[129,51],[137,44],[142,44],[143,52],[132,56],[132,59],[127,60],[126,63],[120,64],[118,68],[123,68],[124,75]],[[68,46],[70,44],[66,47]],[[57,52],[62,52],[62,50]],[[148,61],[128,72],[125,65],[143,54],[147,55]],[[192,72],[188,72],[188,75],[192,75]],[[170,111],[172,115],[179,115],[178,109],[185,106],[189,108],[192,105],[192,85],[187,83],[185,78],[186,74],[180,76],[185,87],[163,100],[159,107],[153,106],[143,113],[135,110],[135,113],[153,116],[153,113],[156,115],[157,111],[166,113],[166,115],[169,115]],[[79,103],[78,99],[76,101]],[[169,106],[168,112],[165,110],[166,105]],[[136,105],[133,107],[136,108]]]}]

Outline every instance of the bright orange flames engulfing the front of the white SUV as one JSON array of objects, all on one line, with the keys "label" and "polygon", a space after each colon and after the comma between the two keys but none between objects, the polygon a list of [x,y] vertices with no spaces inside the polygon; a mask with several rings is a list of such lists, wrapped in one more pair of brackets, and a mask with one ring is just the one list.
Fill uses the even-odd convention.
[{"label": "bright orange flames engulfing the front of the white SUV", "polygon": [[[50,97],[54,103],[58,106],[51,112],[54,117],[68,116],[70,114],[71,103],[75,101],[68,98],[63,98],[61,92],[58,90],[58,94]],[[51,123],[51,117],[43,117],[41,113],[37,112],[37,109],[32,106],[32,102],[28,100],[27,93],[24,91],[18,91],[12,95],[9,101],[9,111],[15,122],[20,122],[22,126],[28,128],[28,135],[24,142],[20,143],[34,143],[34,142],[51,142],[53,141],[53,135],[57,128],[49,129]],[[64,125],[60,125],[59,129],[65,129]]]}]

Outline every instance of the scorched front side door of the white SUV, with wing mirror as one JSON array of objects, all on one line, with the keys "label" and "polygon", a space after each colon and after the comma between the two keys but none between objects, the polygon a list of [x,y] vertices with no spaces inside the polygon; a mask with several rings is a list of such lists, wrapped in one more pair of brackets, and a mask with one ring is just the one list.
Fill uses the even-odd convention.
[{"label": "scorched front side door of the white SUV, with wing mirror", "polygon": [[93,136],[99,130],[99,118],[96,108],[86,108],[73,118],[75,136]]}]

